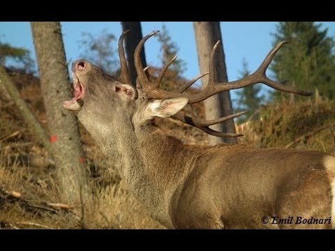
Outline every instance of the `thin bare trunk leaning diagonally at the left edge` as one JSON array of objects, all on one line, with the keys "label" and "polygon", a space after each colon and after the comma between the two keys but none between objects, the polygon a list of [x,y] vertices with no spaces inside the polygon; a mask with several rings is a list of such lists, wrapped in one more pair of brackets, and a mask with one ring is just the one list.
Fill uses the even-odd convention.
[{"label": "thin bare trunk leaning diagonally at the left edge", "polygon": [[27,102],[25,102],[21,96],[20,92],[16,89],[15,84],[12,79],[6,73],[6,70],[0,66],[0,84],[5,86],[10,98],[15,102],[15,105],[20,110],[24,122],[27,124],[29,130],[36,135],[40,143],[43,144],[47,152],[52,155],[50,139],[47,137],[47,133],[44,128],[40,126],[38,119],[29,109]]}]

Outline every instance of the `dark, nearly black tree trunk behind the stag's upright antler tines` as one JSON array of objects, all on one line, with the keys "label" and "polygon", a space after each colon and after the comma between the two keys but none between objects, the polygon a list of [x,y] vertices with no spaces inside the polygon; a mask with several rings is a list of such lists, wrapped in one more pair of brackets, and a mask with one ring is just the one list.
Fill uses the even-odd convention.
[{"label": "dark, nearly black tree trunk behind the stag's upright antler tines", "polygon": [[[127,56],[127,63],[128,63],[128,69],[129,69],[129,75],[131,75],[131,83],[133,86],[135,86],[136,82],[136,70],[135,70],[135,64],[134,64],[134,52],[136,45],[140,42],[142,39],[142,27],[141,22],[121,22],[122,31],[130,30],[130,32],[127,34],[125,38],[125,51]],[[147,62],[145,61],[145,52],[144,47],[141,54],[141,61],[143,67],[147,66]]]}]

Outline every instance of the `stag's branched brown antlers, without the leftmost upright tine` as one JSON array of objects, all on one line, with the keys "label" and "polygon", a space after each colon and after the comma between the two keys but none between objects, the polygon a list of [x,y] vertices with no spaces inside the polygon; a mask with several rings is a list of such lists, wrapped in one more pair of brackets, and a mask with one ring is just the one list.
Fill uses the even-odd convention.
[{"label": "stag's branched brown antlers, without the leftmost upright tine", "polygon": [[[272,59],[274,59],[274,56],[278,52],[278,50],[285,44],[288,43],[288,41],[283,41],[274,46],[274,48],[267,54],[264,61],[260,64],[260,67],[255,70],[254,73],[251,75],[248,75],[247,77],[244,77],[242,79],[232,81],[232,82],[216,82],[215,80],[215,72],[214,72],[214,56],[216,53],[216,49],[218,45],[220,44],[220,41],[218,41],[211,51],[211,57],[209,60],[209,73],[204,73],[198,77],[195,77],[190,82],[184,84],[184,86],[181,86],[181,88],[178,90],[178,92],[173,91],[165,91],[162,89],[159,89],[159,85],[161,84],[161,80],[163,79],[163,76],[165,75],[166,70],[168,67],[173,63],[173,61],[177,58],[177,56],[174,56],[170,61],[165,63],[165,66],[163,66],[161,73],[159,73],[158,78],[156,79],[156,82],[154,84],[151,84],[149,82],[149,79],[147,75],[145,74],[145,70],[143,69],[142,63],[140,61],[140,53],[142,51],[142,47],[144,43],[151,38],[151,36],[154,36],[158,31],[153,31],[149,33],[149,35],[144,36],[140,43],[138,43],[135,54],[134,54],[134,61],[135,61],[135,68],[137,72],[137,82],[139,84],[139,87],[146,93],[147,98],[155,98],[155,99],[161,99],[161,98],[177,98],[177,97],[187,97],[189,99],[188,103],[195,103],[200,102],[202,100],[205,100],[216,93],[220,93],[221,91],[229,91],[232,89],[239,89],[246,86],[251,86],[253,84],[262,83],[266,84],[267,86],[270,86],[274,89],[277,89],[279,91],[284,91],[288,93],[296,93],[301,96],[311,96],[313,92],[311,91],[304,91],[299,90],[293,86],[285,86],[280,82],[275,82],[274,80],[269,79],[266,75],[267,68],[269,67],[269,64],[271,63]],[[207,86],[202,89],[202,91],[198,93],[193,94],[186,94],[184,91],[188,89],[193,83],[195,83],[198,79],[201,77],[204,77],[204,75],[209,74],[209,80]],[[210,135],[214,135],[217,137],[239,137],[241,135],[232,134],[232,133],[224,133],[224,132],[217,132],[215,130],[212,130],[209,128],[209,126],[215,125],[217,123],[222,123],[224,121],[227,121],[228,119],[236,118],[237,116],[240,116],[241,114],[244,114],[245,112],[239,112],[237,114],[232,114],[229,116],[225,116],[221,119],[216,119],[212,121],[198,121],[195,119],[192,119],[189,116],[186,116],[184,114],[181,114],[181,112],[175,114],[172,116],[174,119],[178,119],[179,121],[182,121],[184,123],[187,123],[188,125],[195,126],[196,128],[199,128],[200,130],[203,130],[204,132],[207,132]]]}]

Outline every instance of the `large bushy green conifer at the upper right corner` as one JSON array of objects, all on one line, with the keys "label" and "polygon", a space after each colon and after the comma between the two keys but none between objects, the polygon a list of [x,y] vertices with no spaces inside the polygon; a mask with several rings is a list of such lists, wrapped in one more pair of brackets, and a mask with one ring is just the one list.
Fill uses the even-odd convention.
[{"label": "large bushy green conifer at the upper right corner", "polygon": [[[274,58],[271,70],[276,79],[288,79],[299,89],[318,89],[321,97],[335,98],[334,39],[327,36],[314,22],[279,22],[274,43],[290,41]],[[288,99],[288,94],[271,93],[278,101]]]}]

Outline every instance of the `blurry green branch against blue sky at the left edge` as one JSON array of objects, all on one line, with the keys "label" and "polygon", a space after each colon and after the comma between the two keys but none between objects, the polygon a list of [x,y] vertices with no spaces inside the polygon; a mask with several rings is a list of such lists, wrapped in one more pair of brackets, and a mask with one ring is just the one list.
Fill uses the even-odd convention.
[{"label": "blurry green branch against blue sky at the left edge", "polygon": [[29,50],[13,47],[0,41],[0,65],[7,68],[23,70],[24,73],[34,73],[34,60],[31,59]]}]

